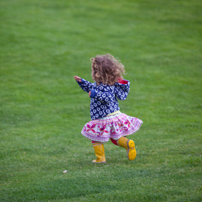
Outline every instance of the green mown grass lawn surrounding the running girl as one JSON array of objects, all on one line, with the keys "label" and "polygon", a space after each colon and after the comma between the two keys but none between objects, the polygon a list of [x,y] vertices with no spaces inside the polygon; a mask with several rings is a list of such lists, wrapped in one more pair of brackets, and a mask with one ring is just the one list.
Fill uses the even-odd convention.
[{"label": "green mown grass lawn surrounding the running girl", "polygon": [[[0,201],[201,201],[202,3],[0,1]],[[90,57],[125,65],[137,158],[80,131]],[[63,174],[63,170],[67,170]]]}]

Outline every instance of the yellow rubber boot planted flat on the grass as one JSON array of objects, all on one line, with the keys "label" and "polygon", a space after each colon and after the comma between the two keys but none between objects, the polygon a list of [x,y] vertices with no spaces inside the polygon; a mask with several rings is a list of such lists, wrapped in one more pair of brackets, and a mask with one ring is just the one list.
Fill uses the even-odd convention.
[{"label": "yellow rubber boot planted flat on the grass", "polygon": [[100,142],[93,143],[93,148],[97,159],[93,160],[92,163],[106,163],[104,144]]}]

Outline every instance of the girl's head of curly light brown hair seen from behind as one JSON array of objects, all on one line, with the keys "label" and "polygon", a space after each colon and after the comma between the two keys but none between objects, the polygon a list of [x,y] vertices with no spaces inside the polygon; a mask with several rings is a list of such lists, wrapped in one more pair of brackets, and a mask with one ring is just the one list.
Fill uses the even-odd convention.
[{"label": "girl's head of curly light brown hair seen from behind", "polygon": [[124,66],[110,54],[97,55],[91,61],[92,78],[98,85],[114,85],[125,74]]}]

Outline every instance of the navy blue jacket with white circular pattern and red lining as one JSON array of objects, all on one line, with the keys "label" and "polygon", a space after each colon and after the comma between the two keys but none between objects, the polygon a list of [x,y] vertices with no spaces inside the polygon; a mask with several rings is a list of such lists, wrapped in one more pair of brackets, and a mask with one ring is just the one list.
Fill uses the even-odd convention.
[{"label": "navy blue jacket with white circular pattern and red lining", "polygon": [[120,110],[118,99],[125,100],[130,90],[130,82],[121,80],[113,86],[100,83],[99,85],[81,79],[78,82],[82,90],[91,91],[90,116],[92,120],[100,119],[110,113]]}]

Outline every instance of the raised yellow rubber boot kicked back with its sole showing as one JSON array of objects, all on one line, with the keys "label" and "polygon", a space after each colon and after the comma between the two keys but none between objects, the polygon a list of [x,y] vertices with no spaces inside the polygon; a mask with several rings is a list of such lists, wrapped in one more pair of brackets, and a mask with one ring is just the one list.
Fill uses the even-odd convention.
[{"label": "raised yellow rubber boot kicked back with its sole showing", "polygon": [[136,157],[135,143],[133,140],[129,140],[126,137],[121,137],[118,140],[118,145],[124,147],[127,150],[128,159],[134,160]]}]

